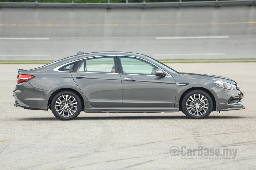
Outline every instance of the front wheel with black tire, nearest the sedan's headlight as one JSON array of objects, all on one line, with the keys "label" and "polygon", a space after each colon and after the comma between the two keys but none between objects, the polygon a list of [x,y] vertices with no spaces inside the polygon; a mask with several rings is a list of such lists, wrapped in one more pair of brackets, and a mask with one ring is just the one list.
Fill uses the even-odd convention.
[{"label": "front wheel with black tire, nearest the sedan's headlight", "polygon": [[211,96],[202,90],[192,90],[182,99],[182,112],[191,119],[204,119],[213,110]]}]

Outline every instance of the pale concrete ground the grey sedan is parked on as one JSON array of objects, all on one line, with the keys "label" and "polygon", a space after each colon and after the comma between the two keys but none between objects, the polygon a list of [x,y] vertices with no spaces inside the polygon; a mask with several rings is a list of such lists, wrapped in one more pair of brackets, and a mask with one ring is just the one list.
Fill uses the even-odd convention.
[{"label": "pale concrete ground the grey sedan is parked on", "polygon": [[[245,109],[213,112],[203,120],[179,112],[81,113],[60,121],[50,110],[13,106],[17,69],[42,65],[1,64],[0,169],[255,169],[255,63],[168,65],[234,79],[244,93]],[[235,158],[198,156],[197,151],[173,156],[172,146],[237,152]]]}]

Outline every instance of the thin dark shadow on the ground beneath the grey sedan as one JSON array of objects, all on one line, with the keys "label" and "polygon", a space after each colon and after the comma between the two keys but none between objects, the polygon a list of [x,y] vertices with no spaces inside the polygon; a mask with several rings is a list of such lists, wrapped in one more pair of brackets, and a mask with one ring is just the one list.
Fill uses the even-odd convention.
[{"label": "thin dark shadow on the ground beneath the grey sedan", "polygon": [[[248,118],[248,117],[242,117],[242,116],[208,116],[204,120],[208,119],[241,119],[241,118]],[[17,118],[20,121],[51,121],[51,120],[58,120],[55,117],[31,117],[31,118]],[[16,120],[17,120],[16,119]],[[184,116],[101,116],[101,117],[85,117],[85,116],[80,116],[75,118],[72,121],[77,121],[77,120],[129,120],[129,119],[170,119],[170,120],[178,120],[178,119],[187,119],[191,120],[190,118]],[[194,120],[197,121],[197,120]]]}]

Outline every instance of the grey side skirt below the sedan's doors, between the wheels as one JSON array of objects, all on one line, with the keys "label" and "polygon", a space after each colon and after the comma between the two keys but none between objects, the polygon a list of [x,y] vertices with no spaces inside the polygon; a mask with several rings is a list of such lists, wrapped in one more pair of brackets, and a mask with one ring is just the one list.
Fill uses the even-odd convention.
[{"label": "grey side skirt below the sedan's doors, between the wheels", "polygon": [[[91,107],[89,102],[85,103],[85,112],[86,113],[150,113],[150,112],[179,112],[178,107],[170,108],[170,107],[158,107],[158,108],[127,108],[127,107],[116,107],[116,108],[94,108]],[[176,105],[175,105],[176,106]],[[179,106],[179,105],[177,105]]]}]

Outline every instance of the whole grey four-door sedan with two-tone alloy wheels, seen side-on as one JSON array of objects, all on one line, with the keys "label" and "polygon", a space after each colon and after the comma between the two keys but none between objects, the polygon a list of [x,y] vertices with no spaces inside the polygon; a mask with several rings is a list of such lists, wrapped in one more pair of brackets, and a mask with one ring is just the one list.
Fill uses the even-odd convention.
[{"label": "whole grey four-door sedan with two-tone alloy wheels, seen side-on", "polygon": [[18,69],[13,96],[16,107],[51,109],[60,120],[72,120],[81,111],[182,111],[203,119],[212,111],[245,108],[234,80],[177,72],[128,52],[77,52],[36,69]]}]

